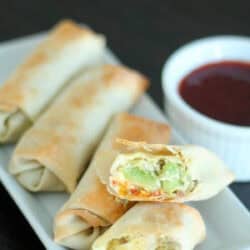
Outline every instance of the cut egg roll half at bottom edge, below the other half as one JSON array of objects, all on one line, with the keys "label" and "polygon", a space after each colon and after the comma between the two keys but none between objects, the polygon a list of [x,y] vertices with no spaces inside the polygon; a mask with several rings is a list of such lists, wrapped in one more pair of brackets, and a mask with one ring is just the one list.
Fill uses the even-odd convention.
[{"label": "cut egg roll half at bottom edge, below the other half", "polygon": [[192,250],[204,240],[200,213],[178,203],[137,203],[96,239],[92,250]]}]

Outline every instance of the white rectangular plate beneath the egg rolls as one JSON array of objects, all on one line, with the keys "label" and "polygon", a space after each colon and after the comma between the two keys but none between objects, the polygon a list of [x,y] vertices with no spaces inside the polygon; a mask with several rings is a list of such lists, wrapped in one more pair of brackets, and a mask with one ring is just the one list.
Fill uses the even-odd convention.
[{"label": "white rectangular plate beneath the egg rolls", "polygon": [[[44,37],[44,34],[33,35],[0,44],[0,82],[3,82],[23,58]],[[114,55],[106,52],[108,62],[118,62]],[[149,96],[145,95],[133,109],[133,113],[157,121],[167,122]],[[171,142],[185,143],[172,129]],[[67,194],[43,193],[32,194],[25,191],[7,172],[7,165],[13,146],[1,146],[0,180],[12,196],[25,218],[47,249],[65,249],[52,240],[52,222],[56,211],[68,198]],[[226,189],[213,199],[192,203],[202,214],[207,226],[206,240],[196,250],[243,250],[250,249],[250,214],[235,197]],[[243,248],[243,246],[247,246]],[[233,248],[231,248],[233,246]]]}]

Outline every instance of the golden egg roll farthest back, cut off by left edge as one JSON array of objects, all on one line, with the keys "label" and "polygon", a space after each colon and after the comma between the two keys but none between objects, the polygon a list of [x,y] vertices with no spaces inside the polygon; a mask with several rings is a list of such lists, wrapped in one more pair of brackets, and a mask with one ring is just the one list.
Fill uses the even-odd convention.
[{"label": "golden egg roll farthest back, cut off by left edge", "polygon": [[74,73],[101,61],[105,38],[61,21],[0,87],[0,143],[30,127]]}]

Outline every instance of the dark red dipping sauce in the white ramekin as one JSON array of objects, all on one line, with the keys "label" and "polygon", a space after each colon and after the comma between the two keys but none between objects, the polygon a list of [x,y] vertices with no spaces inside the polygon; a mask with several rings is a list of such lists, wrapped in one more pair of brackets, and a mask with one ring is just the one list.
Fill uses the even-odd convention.
[{"label": "dark red dipping sauce in the white ramekin", "polygon": [[250,126],[250,64],[223,61],[202,66],[180,83],[191,107],[213,119]]}]

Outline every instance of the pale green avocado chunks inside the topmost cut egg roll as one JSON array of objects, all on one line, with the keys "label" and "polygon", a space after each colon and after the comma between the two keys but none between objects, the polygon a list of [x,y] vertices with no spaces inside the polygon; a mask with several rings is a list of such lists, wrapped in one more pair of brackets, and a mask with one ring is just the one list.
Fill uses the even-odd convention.
[{"label": "pale green avocado chunks inside the topmost cut egg roll", "polygon": [[[125,166],[125,167],[123,167]],[[124,178],[136,187],[150,192],[163,191],[169,197],[192,189],[187,168],[180,162],[166,159],[130,159],[119,168]]]}]

